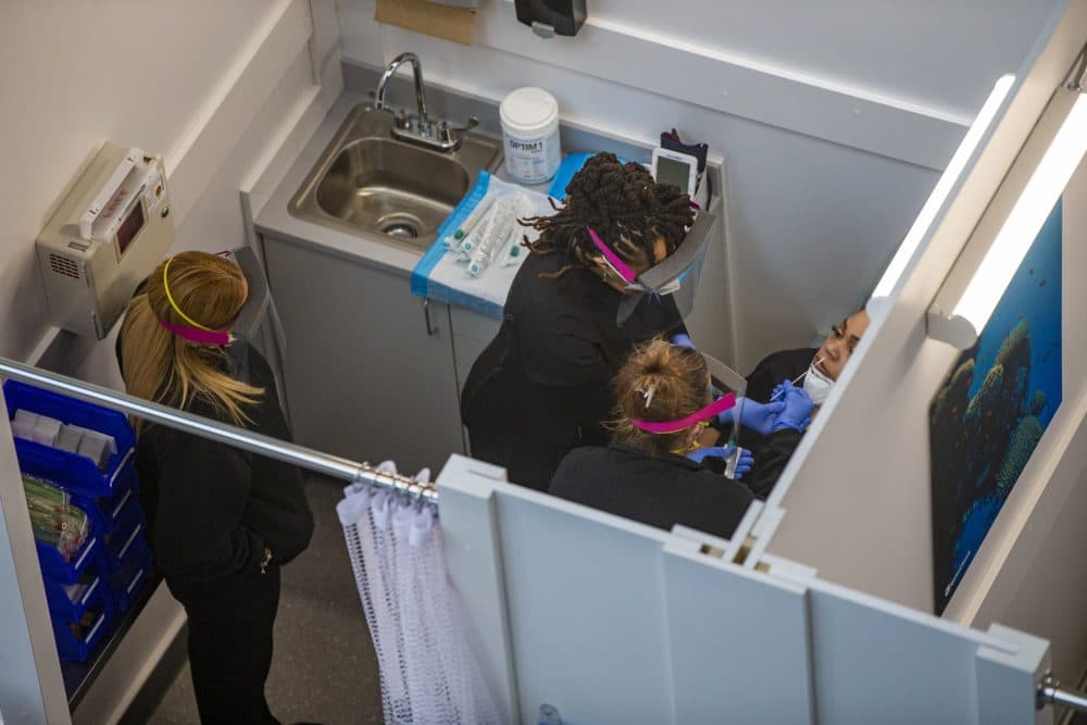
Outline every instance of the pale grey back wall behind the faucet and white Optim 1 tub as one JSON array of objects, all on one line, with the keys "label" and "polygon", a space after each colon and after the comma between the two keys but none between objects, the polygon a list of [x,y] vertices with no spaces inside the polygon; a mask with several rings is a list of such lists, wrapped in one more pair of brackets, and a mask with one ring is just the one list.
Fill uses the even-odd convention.
[{"label": "pale grey back wall behind the faucet and white Optim 1 tub", "polygon": [[723,152],[745,372],[863,300],[1053,4],[595,0],[576,38],[545,41],[490,0],[464,47],[337,1],[348,59],[413,50],[430,82],[492,100],[540,85],[571,121],[641,141],[674,125]]}]

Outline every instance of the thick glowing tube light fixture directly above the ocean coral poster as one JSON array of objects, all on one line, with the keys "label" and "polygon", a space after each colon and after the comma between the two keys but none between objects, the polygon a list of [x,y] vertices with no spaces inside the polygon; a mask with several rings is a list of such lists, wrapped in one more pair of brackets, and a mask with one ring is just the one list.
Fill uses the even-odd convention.
[{"label": "thick glowing tube light fixture directly above the ocean coral poster", "polygon": [[[1059,95],[1066,92],[1072,91],[1064,87],[1058,91]],[[1071,110],[1061,122],[1041,160],[1030,172],[1022,192],[1012,204],[1011,211],[1004,217],[961,297],[953,305],[944,305],[939,303],[944,290],[937,295],[937,302],[928,313],[930,337],[965,350],[977,341],[982,330],[985,329],[1004,289],[1023,263],[1023,258],[1026,257],[1042,224],[1052,212],[1053,205],[1067,186],[1084,153],[1087,152],[1087,93],[1074,95],[1076,98]],[[1066,101],[1061,104],[1064,103]],[[1039,126],[1041,125],[1042,122],[1039,121]],[[1037,130],[1038,127],[1035,133]],[[947,284],[945,283],[945,286]],[[950,315],[940,312],[949,308],[952,310]]]}]

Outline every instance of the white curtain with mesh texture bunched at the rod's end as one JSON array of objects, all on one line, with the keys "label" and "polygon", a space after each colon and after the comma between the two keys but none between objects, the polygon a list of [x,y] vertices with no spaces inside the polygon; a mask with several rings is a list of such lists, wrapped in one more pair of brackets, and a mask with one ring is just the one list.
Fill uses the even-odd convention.
[{"label": "white curtain with mesh texture bunched at the rod's end", "polygon": [[[429,471],[415,478],[425,483]],[[377,651],[385,722],[497,724],[461,628],[434,505],[365,485],[343,493],[336,511]]]}]

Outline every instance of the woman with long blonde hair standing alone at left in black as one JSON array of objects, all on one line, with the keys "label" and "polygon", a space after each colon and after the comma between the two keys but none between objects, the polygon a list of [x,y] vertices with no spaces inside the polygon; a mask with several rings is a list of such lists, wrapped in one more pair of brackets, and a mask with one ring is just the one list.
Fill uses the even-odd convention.
[{"label": "woman with long blonde hair standing alone at left in black", "polygon": [[[128,303],[117,360],[128,392],[282,440],[290,430],[267,362],[230,326],[249,297],[241,268],[182,252]],[[247,378],[234,361],[248,355]],[[189,621],[202,723],[277,723],[264,697],[279,567],[309,546],[300,471],[137,421],[140,499],[155,565]]]}]

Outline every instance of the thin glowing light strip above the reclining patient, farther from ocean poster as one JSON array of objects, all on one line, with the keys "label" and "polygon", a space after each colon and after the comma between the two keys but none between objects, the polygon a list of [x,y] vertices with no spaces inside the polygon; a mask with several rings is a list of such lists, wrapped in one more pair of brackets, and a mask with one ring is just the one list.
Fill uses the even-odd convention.
[{"label": "thin glowing light strip above the reclining patient, farther from ocean poster", "polygon": [[982,110],[978,111],[974,123],[966,130],[966,135],[951,157],[951,161],[944,170],[939,180],[936,182],[933,192],[928,195],[928,200],[921,208],[921,213],[914,220],[913,226],[910,227],[905,238],[902,239],[898,251],[895,252],[890,264],[887,265],[883,276],[879,278],[879,283],[876,284],[876,288],[872,291],[872,297],[865,305],[869,314],[875,314],[885,308],[891,292],[895,290],[895,286],[905,272],[907,265],[913,259],[914,252],[917,251],[922,240],[927,235],[933,221],[936,218],[936,214],[944,208],[944,202],[962,175],[963,168],[966,167],[966,162],[974,155],[974,150],[977,149],[982,137],[985,136],[985,132],[992,124],[997,111],[1004,102],[1004,99],[1008,98],[1008,91],[1011,90],[1013,83],[1015,83],[1015,76],[1005,75],[994,85],[989,98],[982,105]]}]

